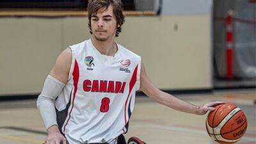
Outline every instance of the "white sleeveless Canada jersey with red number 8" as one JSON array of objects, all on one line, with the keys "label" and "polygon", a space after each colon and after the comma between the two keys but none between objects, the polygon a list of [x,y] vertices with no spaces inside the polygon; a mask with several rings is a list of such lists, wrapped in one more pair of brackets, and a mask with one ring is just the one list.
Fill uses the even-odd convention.
[{"label": "white sleeveless Canada jersey with red number 8", "polygon": [[70,144],[114,144],[127,132],[141,58],[117,46],[115,56],[100,54],[91,40],[70,46],[68,83],[55,104],[58,126]]}]

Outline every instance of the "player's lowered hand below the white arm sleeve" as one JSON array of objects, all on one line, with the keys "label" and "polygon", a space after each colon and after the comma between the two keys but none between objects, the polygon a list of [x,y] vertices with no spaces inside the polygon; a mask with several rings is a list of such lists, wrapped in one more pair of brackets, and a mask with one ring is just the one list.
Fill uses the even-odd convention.
[{"label": "player's lowered hand below the white arm sleeve", "polygon": [[47,133],[44,144],[67,144],[66,138],[60,133],[57,125],[49,127]]}]

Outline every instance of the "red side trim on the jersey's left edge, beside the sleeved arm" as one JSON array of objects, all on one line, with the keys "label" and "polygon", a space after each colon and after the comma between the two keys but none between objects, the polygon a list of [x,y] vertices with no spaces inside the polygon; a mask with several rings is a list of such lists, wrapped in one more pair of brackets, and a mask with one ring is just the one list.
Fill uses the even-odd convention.
[{"label": "red side trim on the jersey's left edge, beside the sleeved arm", "polygon": [[77,61],[75,61],[75,65],[74,65],[74,70],[73,70],[72,76],[73,76],[74,94],[73,94],[73,100],[72,100],[72,108],[71,108],[71,110],[69,112],[67,123],[64,126],[64,131],[63,131],[64,133],[65,133],[65,129],[66,129],[66,126],[68,124],[68,121],[70,120],[70,116],[71,116],[72,110],[74,108],[74,101],[76,99],[77,84],[78,84],[78,80],[79,80],[79,66],[78,66]]}]

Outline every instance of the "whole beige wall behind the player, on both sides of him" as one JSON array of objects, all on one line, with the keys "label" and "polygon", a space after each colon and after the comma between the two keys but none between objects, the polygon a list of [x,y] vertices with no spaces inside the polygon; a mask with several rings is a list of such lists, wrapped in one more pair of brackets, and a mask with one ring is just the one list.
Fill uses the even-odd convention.
[{"label": "whole beige wall behind the player, on both sides of him", "polygon": [[[58,54],[90,38],[87,22],[86,17],[1,18],[0,95],[39,93]],[[141,55],[157,87],[211,88],[209,22],[209,15],[127,17],[117,41]]]}]

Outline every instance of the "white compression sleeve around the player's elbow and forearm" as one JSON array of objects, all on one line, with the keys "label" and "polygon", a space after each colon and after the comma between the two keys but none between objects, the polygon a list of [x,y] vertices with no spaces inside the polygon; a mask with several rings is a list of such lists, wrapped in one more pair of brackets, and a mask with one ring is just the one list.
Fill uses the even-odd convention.
[{"label": "white compression sleeve around the player's elbow and forearm", "polygon": [[45,79],[44,88],[36,101],[36,106],[40,110],[46,129],[52,125],[58,125],[54,102],[64,86],[65,83],[50,75]]}]

